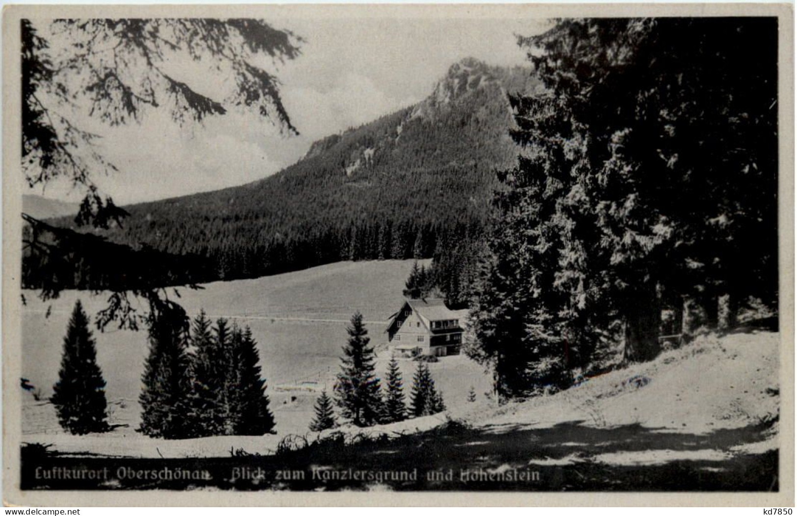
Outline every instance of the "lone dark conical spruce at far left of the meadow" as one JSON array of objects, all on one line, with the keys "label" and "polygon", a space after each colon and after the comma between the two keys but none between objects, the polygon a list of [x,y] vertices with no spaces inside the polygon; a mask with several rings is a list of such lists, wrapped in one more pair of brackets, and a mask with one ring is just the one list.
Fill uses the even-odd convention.
[{"label": "lone dark conical spruce at far left of the meadow", "polygon": [[106,432],[105,381],[96,363],[96,347],[88,330],[88,317],[80,301],[75,303],[64,337],[61,371],[53,386],[58,422],[70,433]]}]

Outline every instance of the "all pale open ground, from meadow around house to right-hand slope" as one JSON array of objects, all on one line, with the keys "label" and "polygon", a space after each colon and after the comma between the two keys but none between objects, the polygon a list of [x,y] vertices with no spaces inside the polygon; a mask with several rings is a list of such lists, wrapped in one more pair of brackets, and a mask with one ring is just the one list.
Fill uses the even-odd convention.
[{"label": "all pale open ground, from meadow around house to right-hand slope", "polygon": [[[274,435],[167,441],[136,433],[140,378],[147,354],[146,335],[111,329],[96,332],[95,336],[98,362],[108,380],[112,432],[89,436],[65,434],[57,423],[53,405],[36,402],[25,393],[21,418],[23,440],[53,444],[53,448],[62,452],[179,457],[229,456],[237,449],[262,454],[273,451],[290,434],[313,438],[308,434],[308,424],[318,393],[285,391],[277,386],[312,380],[331,389],[339,370],[340,348],[346,341],[347,319],[355,309],[363,312],[368,321],[372,343],[379,352],[377,371],[383,375],[389,355],[383,333],[385,323],[380,321],[387,320],[400,303],[400,295],[396,293],[401,292],[411,265],[411,261],[341,262],[254,280],[216,282],[205,285],[203,290],[183,292],[182,301],[188,312],[193,314],[205,308],[211,316],[232,316],[239,324],[252,327],[260,343],[263,373],[269,381],[267,392],[277,421]],[[33,296],[23,311],[23,374],[43,390],[45,398],[51,394],[50,387],[57,379],[61,339],[77,297],[93,312],[104,303],[101,297],[87,299],[85,293],[68,292],[53,301],[53,314],[49,317],[45,317],[49,304]],[[777,333],[703,336],[685,347],[666,351],[650,363],[590,378],[557,394],[499,407],[491,398],[489,374],[481,366],[464,355],[445,357],[429,365],[448,406],[446,414],[367,429],[364,433],[414,433],[453,418],[485,433],[548,429],[569,423],[594,429],[638,425],[650,432],[683,433],[685,438],[692,439],[690,434],[709,435],[718,429],[742,429],[771,421],[779,406],[778,359]],[[417,364],[405,360],[399,365],[409,398]],[[472,387],[477,401],[467,402]],[[363,433],[363,429],[347,427],[343,431],[352,435]],[[558,445],[573,450],[583,448],[583,442],[575,442],[583,440],[581,437],[565,436]],[[462,445],[484,444],[478,441]],[[722,453],[762,453],[774,448],[778,448],[776,435],[763,441],[728,444],[721,450],[707,447],[690,453],[689,457],[713,460],[710,457]],[[592,460],[599,458],[614,463],[655,463],[662,458],[687,460],[680,452],[668,454],[662,449],[642,456],[618,453],[604,453],[603,457],[598,455]],[[539,460],[546,459],[543,456]],[[573,456],[572,460],[583,457]]]}]

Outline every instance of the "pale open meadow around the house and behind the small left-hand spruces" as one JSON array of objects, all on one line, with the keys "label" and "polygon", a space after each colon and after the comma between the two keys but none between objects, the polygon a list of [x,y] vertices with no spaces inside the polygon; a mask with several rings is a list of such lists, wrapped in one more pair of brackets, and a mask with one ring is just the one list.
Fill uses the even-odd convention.
[{"label": "pale open meadow around the house and behind the small left-hand spruces", "polygon": [[[107,328],[95,332],[97,361],[108,382],[110,433],[71,436],[58,425],[53,405],[36,402],[24,394],[22,410],[23,440],[53,444],[65,452],[92,452],[124,456],[229,456],[230,448],[264,453],[276,448],[285,435],[308,432],[313,417],[316,392],[285,391],[280,386],[301,381],[318,382],[332,388],[339,371],[341,347],[347,339],[346,325],[351,313],[359,310],[367,321],[371,341],[379,349],[378,372],[387,367],[387,318],[402,302],[404,281],[412,261],[339,262],[328,266],[252,280],[215,282],[204,289],[181,289],[181,304],[190,314],[204,308],[212,317],[225,316],[252,328],[261,355],[267,393],[277,420],[277,434],[258,437],[220,436],[199,440],[167,441],[141,436],[138,396],[143,362],[147,355],[146,332]],[[103,297],[66,292],[61,298],[42,303],[35,293],[26,293],[23,311],[23,375],[42,391],[52,394],[61,362],[61,339],[69,312],[77,298],[87,312],[104,305]],[[52,305],[49,317],[45,316]],[[406,390],[412,381],[415,363],[400,363]],[[431,363],[430,369],[442,390],[446,404],[489,404],[489,377],[483,368],[464,355],[446,357]],[[466,401],[470,387],[478,401]],[[437,420],[434,420],[437,421]],[[418,421],[426,428],[434,423]]]}]

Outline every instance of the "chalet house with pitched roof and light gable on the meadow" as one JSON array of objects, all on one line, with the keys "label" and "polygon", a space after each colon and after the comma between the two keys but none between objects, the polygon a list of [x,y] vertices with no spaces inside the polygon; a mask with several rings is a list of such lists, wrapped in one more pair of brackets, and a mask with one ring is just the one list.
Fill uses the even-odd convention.
[{"label": "chalet house with pitched roof and light gable on the meadow", "polygon": [[442,299],[406,299],[387,325],[388,345],[403,357],[459,355],[464,316]]}]

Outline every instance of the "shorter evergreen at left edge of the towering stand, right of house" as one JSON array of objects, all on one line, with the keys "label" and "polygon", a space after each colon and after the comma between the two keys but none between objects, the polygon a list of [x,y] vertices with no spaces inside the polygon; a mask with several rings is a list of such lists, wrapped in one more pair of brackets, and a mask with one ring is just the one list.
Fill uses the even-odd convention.
[{"label": "shorter evergreen at left edge of the towering stand, right of house", "polygon": [[[556,305],[548,301],[555,294],[547,285],[556,257],[550,247],[540,246],[552,230],[538,220],[541,201],[509,208],[518,187],[514,177],[505,180],[512,188],[497,194],[501,215],[489,239],[492,255],[469,318],[475,343],[465,346],[471,358],[492,369],[497,394],[504,399],[568,384],[565,342],[557,332],[559,317]],[[532,198],[540,199],[540,188],[519,188],[533,190],[538,195]]]}]

